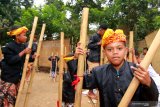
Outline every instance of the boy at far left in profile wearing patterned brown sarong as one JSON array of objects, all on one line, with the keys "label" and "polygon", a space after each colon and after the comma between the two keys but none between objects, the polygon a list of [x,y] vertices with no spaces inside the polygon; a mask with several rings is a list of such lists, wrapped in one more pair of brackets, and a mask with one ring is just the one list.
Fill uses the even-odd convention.
[{"label": "boy at far left in profile wearing patterned brown sarong", "polygon": [[31,52],[26,42],[26,27],[14,26],[7,34],[14,39],[2,48],[2,73],[0,80],[0,107],[14,107],[23,71],[25,55]]}]

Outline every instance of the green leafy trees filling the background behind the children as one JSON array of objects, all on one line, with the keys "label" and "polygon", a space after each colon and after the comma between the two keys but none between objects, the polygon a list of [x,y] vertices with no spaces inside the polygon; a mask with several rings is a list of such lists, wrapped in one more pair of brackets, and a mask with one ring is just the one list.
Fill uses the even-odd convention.
[{"label": "green leafy trees filling the background behind the children", "polygon": [[[0,2],[2,28],[18,24],[31,29],[34,16],[38,16],[37,33],[40,33],[42,24],[46,23],[46,39],[52,39],[53,34],[64,31],[65,37],[72,38],[72,44],[79,40],[82,9],[85,6],[90,9],[89,24],[97,26],[106,23],[109,28],[124,29],[127,35],[133,30],[136,40],[143,39],[160,27],[158,0],[71,0],[66,4],[62,0],[46,0],[43,7],[31,7],[33,0],[1,1],[9,3],[4,7]],[[28,5],[25,5],[26,1]],[[67,12],[71,13],[69,18],[66,18]],[[88,34],[93,32],[96,31],[89,29]]]}]

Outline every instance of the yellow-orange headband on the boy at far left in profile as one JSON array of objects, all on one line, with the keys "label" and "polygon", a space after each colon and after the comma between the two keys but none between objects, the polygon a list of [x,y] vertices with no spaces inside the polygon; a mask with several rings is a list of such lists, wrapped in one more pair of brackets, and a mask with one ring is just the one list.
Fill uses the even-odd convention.
[{"label": "yellow-orange headband on the boy at far left in profile", "polygon": [[20,27],[18,29],[15,29],[15,30],[12,30],[10,32],[7,32],[7,35],[9,35],[9,36],[16,36],[16,35],[19,35],[19,34],[21,34],[23,32],[27,32],[27,31],[28,31],[28,28],[25,27],[25,26],[23,26],[23,27]]}]

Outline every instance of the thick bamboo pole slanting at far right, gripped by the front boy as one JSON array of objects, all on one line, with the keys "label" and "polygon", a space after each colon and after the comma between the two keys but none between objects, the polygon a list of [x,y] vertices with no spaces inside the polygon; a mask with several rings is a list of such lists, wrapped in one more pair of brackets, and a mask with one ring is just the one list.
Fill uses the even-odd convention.
[{"label": "thick bamboo pole slanting at far right, gripped by the front boy", "polygon": [[[140,63],[140,65],[142,67],[144,67],[145,69],[148,69],[149,64],[152,61],[152,58],[154,56],[154,54],[156,53],[159,45],[160,45],[160,29],[157,33],[157,35],[155,36],[152,44],[150,45],[150,48],[147,52],[147,54],[145,55],[144,59],[142,60],[142,62]],[[125,92],[121,102],[119,103],[118,107],[127,107],[128,104],[130,103],[136,89],[138,88],[140,82],[138,81],[138,79],[136,79],[135,77],[132,79],[127,91]]]}]

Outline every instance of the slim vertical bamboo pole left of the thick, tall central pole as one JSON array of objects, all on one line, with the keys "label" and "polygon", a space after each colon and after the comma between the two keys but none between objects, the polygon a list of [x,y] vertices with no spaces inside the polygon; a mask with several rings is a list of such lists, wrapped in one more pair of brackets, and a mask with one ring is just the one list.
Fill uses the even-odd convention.
[{"label": "slim vertical bamboo pole left of the thick, tall central pole", "polygon": [[63,88],[63,73],[64,73],[64,32],[61,32],[61,49],[60,49],[60,69],[59,69],[59,85],[58,85],[58,102],[57,106],[62,107],[62,88]]}]

